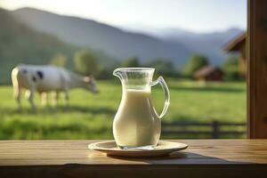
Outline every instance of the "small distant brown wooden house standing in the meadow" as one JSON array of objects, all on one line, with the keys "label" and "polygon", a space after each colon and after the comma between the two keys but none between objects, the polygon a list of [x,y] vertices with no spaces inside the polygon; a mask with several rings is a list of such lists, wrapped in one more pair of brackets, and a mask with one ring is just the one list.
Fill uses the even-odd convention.
[{"label": "small distant brown wooden house standing in the meadow", "polygon": [[204,81],[223,81],[223,71],[214,66],[205,66],[195,72],[194,78]]}]

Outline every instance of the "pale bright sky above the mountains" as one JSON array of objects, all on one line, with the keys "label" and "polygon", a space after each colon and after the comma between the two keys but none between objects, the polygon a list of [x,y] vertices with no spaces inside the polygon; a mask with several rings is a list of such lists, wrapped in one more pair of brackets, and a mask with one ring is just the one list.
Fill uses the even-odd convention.
[{"label": "pale bright sky above the mountains", "polygon": [[0,7],[33,7],[136,31],[247,28],[247,0],[0,0]]}]

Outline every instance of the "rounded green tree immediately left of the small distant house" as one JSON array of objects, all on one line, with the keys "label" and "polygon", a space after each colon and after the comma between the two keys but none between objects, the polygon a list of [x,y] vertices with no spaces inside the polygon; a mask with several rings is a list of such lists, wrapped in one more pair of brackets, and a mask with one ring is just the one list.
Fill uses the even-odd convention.
[{"label": "rounded green tree immediately left of the small distant house", "polygon": [[192,77],[198,69],[206,65],[208,65],[208,60],[205,56],[193,54],[184,67],[184,73],[186,76]]}]

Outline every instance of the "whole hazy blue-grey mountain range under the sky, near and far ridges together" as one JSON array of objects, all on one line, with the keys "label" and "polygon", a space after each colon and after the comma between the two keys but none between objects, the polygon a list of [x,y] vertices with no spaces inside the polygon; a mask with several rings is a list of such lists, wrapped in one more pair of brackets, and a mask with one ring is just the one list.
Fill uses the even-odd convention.
[{"label": "whole hazy blue-grey mountain range under the sky, near and far ridges together", "polygon": [[[162,57],[182,67],[191,53],[202,53],[212,64],[220,65],[226,58],[226,54],[221,50],[223,44],[242,32],[239,28],[231,28],[222,32],[200,34],[172,28],[142,34],[114,28],[95,20],[32,8],[22,8],[10,14],[26,26],[59,37],[63,42],[108,53],[112,56],[108,65],[109,61],[114,61],[113,57],[124,60],[129,56],[138,56],[144,63],[152,58]],[[100,55],[105,56],[101,61],[108,59],[104,53]]]}]

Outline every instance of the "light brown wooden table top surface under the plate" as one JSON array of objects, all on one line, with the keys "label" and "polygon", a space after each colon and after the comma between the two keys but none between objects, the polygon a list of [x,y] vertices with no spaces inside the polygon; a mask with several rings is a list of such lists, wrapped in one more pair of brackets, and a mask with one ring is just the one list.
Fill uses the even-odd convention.
[{"label": "light brown wooden table top surface under the plate", "polygon": [[92,142],[0,141],[0,166],[267,164],[267,140],[177,140],[189,148],[161,158],[110,158]]}]

